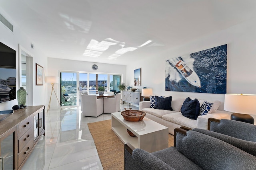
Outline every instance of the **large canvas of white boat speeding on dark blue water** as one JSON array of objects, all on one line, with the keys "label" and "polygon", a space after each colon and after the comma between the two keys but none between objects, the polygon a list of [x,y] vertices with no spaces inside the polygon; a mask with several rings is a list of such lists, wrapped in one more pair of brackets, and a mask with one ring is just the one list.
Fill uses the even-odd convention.
[{"label": "large canvas of white boat speeding on dark blue water", "polygon": [[166,60],[166,91],[225,94],[227,45]]}]

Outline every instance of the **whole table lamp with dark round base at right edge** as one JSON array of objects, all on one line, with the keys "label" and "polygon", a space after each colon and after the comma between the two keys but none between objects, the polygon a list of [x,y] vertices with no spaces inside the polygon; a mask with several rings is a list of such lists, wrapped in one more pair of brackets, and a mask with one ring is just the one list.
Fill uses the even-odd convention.
[{"label": "whole table lamp with dark round base at right edge", "polygon": [[256,114],[255,94],[225,94],[224,110],[234,112],[230,119],[254,124]]}]

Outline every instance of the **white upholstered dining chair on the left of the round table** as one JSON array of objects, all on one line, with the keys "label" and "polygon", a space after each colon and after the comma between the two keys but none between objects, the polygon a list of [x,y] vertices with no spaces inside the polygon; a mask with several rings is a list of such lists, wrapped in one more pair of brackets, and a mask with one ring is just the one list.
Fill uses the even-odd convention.
[{"label": "white upholstered dining chair on the left of the round table", "polygon": [[98,117],[103,113],[103,99],[96,95],[81,95],[81,111],[84,116]]}]

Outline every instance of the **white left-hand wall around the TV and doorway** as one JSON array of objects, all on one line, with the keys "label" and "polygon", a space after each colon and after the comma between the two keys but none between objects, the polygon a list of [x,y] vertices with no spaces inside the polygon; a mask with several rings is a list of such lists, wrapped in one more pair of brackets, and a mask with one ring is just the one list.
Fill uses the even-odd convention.
[{"label": "white left-hand wall around the TV and doorway", "polygon": [[[35,48],[32,49],[30,47],[31,42],[33,42],[33,39],[29,37],[28,35],[25,35],[20,31],[20,28],[18,25],[12,21],[12,19],[6,14],[1,8],[0,13],[10,22],[12,25],[14,25],[14,32],[11,32],[9,29],[6,28],[6,26],[0,22],[0,42],[4,43],[5,45],[8,45],[12,49],[16,50],[16,90],[20,88],[19,83],[19,69],[20,69],[20,61],[19,61],[19,49],[18,44],[20,44],[22,47],[26,49],[26,51],[29,51],[29,53],[33,57],[33,105],[45,105],[46,104],[46,96],[45,96],[45,90],[46,86],[36,86],[36,80],[35,80],[35,69],[36,69],[36,63],[40,64],[43,67],[47,67],[47,60],[46,57],[43,55],[42,51],[40,51],[39,48],[37,48],[36,44]],[[12,106],[17,105],[17,99],[0,103],[0,110],[8,110],[12,109]]]}]

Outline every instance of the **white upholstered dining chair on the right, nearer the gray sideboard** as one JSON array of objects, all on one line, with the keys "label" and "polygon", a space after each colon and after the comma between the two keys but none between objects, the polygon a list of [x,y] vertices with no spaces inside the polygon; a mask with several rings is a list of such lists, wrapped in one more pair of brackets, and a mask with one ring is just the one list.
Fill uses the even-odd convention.
[{"label": "white upholstered dining chair on the right, nearer the gray sideboard", "polygon": [[121,93],[116,94],[115,98],[104,98],[104,113],[114,113],[120,111]]}]

